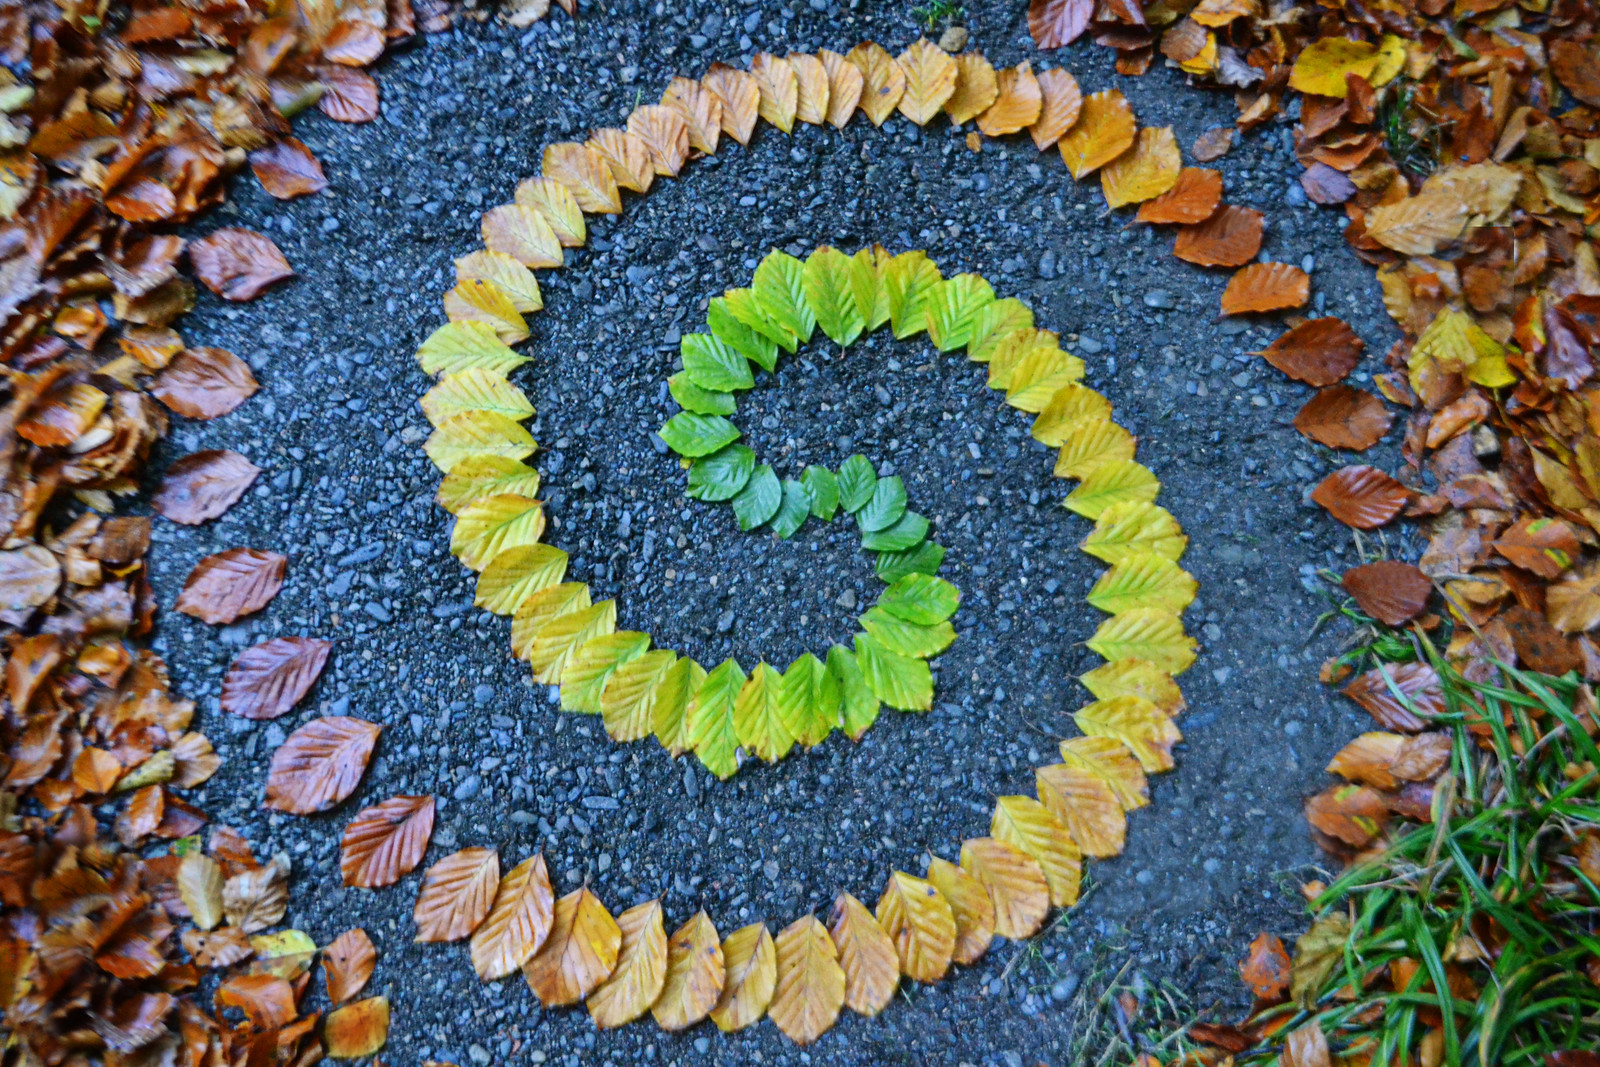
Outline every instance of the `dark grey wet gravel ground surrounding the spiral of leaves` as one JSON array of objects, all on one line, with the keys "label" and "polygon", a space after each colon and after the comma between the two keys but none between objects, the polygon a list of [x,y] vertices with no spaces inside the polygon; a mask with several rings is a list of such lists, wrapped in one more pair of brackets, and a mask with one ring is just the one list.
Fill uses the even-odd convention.
[{"label": "dark grey wet gravel ground surrounding the spiral of leaves", "polygon": [[[960,21],[997,66],[1038,66],[1024,8],[973,5]],[[192,344],[232,349],[264,387],[214,424],[178,421],[162,462],[227,446],[266,474],[210,526],[157,526],[157,589],[170,606],[197,560],[232,545],[288,553],[290,579],[264,613],[219,633],[168,614],[157,648],[226,758],[202,806],[261,851],[290,851],[290,921],[318,942],[365,926],[378,944],[373,990],[395,1005],[386,1061],[1064,1064],[1078,1009],[1107,973],[1126,965],[1125,977],[1171,979],[1198,1006],[1237,1008],[1243,944],[1261,928],[1293,933],[1285,872],[1317,859],[1301,800],[1360,729],[1315,680],[1331,638],[1307,641],[1326,609],[1315,569],[1355,557],[1306,499],[1339,464],[1290,427],[1309,390],[1246,355],[1274,322],[1216,322],[1226,277],[1173,259],[1170,237],[1106,216],[1098,184],[1074,186],[1058,154],[1014,139],[974,154],[942,120],[917,130],[899,117],[882,131],[862,120],[843,133],[765,130],[749,150],[723,149],[626,216],[592,222],[590,248],[541,278],[547,309],[518,381],[539,406],[550,541],[597,600],[619,598],[621,625],[702,662],[786,664],[848,637],[854,611],[842,598],[877,590],[853,533],[811,523],[778,542],[683,496],[651,437],[672,410],[672,342],[773,246],[882,242],[984,274],[1086,358],[1088,382],[1139,435],[1162,502],[1192,537],[1186,566],[1202,597],[1187,619],[1205,648],[1184,678],[1187,741],[1131,819],[1126,854],[1094,864],[1088,901],[1037,945],[1000,944],[877,1019],[842,1019],[810,1053],[770,1022],[733,1037],[651,1024],[598,1033],[582,1011],[541,1011],[520,979],[480,985],[464,947],[413,945],[419,873],[386,891],[339,881],[349,816],[427,792],[440,798],[429,862],[467,845],[499,846],[507,864],[542,848],[558,891],[587,880],[618,910],[662,896],[669,928],[698,907],[725,933],[757,918],[781,926],[840,889],[875,901],[886,873],[920,872],[930,846],[954,857],[962,838],[987,832],[992,797],[1030,792],[1032,768],[1074,733],[1085,694],[1072,677],[1096,662],[1080,641],[1099,619],[1082,601],[1099,566],[1075,550],[1088,525],[1058,507],[1064,485],[1026,418],[925,341],[885,331],[848,358],[813,342],[741,405],[781,474],[858,450],[893,464],[949,547],[944,574],[965,601],[960,638],[938,661],[938,707],[886,712],[861,744],[835,736],[723,784],[654,744],[610,742],[531,685],[507,654],[509,622],[470,608],[472,576],[450,557],[448,515],[432,502],[416,406],[427,381],[413,352],[443,322],[451,258],[477,245],[478,213],[510,198],[546,142],[619,123],[672,74],[715,59],[869,37],[898,51],[917,34],[909,5],[824,0],[586,5],[576,22],[557,13],[526,32],[467,22],[382,64],[378,122],[299,123],[328,194],[278,203],[242,181],[213,222],[270,234],[301,277],[243,307],[206,298],[187,320]],[[1074,70],[1085,93],[1123,90],[1142,125],[1170,123],[1184,146],[1232,117],[1230,99],[1187,91],[1174,72],[1117,77],[1101,50],[1046,64]],[[1267,251],[1314,264],[1317,306],[1382,352],[1392,338],[1376,286],[1346,250],[1342,219],[1298,195],[1286,126],[1218,166],[1230,202],[1269,213]],[[232,657],[280,633],[334,640],[318,688],[272,723],[224,715]],[[322,713],[384,725],[362,789],[322,817],[267,814],[270,752]]]}]

